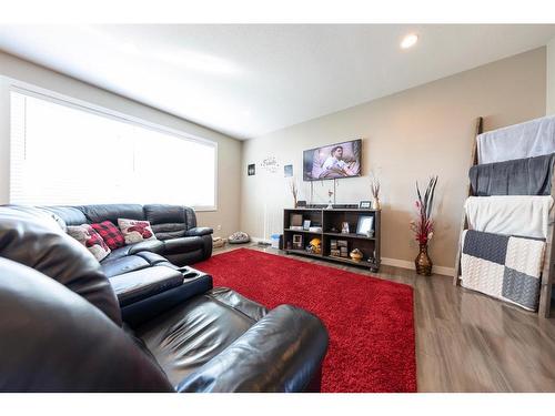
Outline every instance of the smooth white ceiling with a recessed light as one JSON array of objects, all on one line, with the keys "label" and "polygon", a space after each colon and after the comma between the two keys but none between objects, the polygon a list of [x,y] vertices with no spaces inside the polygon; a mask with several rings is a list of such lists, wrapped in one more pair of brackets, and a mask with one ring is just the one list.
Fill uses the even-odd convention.
[{"label": "smooth white ceiling with a recessed light", "polygon": [[[410,32],[418,43],[401,50]],[[554,37],[554,24],[4,24],[0,50],[250,139]]]}]

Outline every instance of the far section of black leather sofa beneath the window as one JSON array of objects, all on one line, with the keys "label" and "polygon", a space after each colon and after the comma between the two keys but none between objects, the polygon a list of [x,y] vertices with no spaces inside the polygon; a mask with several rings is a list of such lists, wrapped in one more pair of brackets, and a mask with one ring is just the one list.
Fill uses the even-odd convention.
[{"label": "far section of black leather sofa beneath the window", "polygon": [[81,225],[118,219],[145,220],[152,225],[157,241],[145,241],[114,250],[103,261],[105,274],[114,276],[148,267],[150,262],[139,252],[162,255],[171,263],[191,265],[212,255],[212,232],[210,227],[196,226],[193,209],[164,204],[98,204],[79,206],[41,206],[54,215],[60,226]]}]

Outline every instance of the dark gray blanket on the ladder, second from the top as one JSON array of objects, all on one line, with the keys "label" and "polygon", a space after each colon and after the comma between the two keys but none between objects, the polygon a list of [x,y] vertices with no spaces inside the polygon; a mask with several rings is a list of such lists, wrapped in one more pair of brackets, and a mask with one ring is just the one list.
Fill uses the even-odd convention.
[{"label": "dark gray blanket on the ladder, second from the top", "polygon": [[478,164],[468,171],[476,196],[551,195],[555,153]]}]

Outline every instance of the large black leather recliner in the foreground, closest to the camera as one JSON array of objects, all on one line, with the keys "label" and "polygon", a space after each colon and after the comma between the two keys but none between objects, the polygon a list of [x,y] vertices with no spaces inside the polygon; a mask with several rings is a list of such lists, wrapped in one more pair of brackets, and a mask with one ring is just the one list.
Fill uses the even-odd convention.
[{"label": "large black leather recliner in the foreground, closest to the camera", "polygon": [[[164,267],[164,266],[160,266]],[[204,287],[122,324],[94,257],[41,210],[0,207],[0,390],[317,390],[327,334]]]}]

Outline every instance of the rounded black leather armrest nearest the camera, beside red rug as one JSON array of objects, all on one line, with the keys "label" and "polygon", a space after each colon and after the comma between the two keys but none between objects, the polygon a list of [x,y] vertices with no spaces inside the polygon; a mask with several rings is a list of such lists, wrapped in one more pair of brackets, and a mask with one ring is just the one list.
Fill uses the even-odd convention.
[{"label": "rounded black leather armrest nearest the camera, beside red rug", "polygon": [[281,305],[184,378],[179,392],[303,392],[320,375],[327,332],[314,315]]}]

